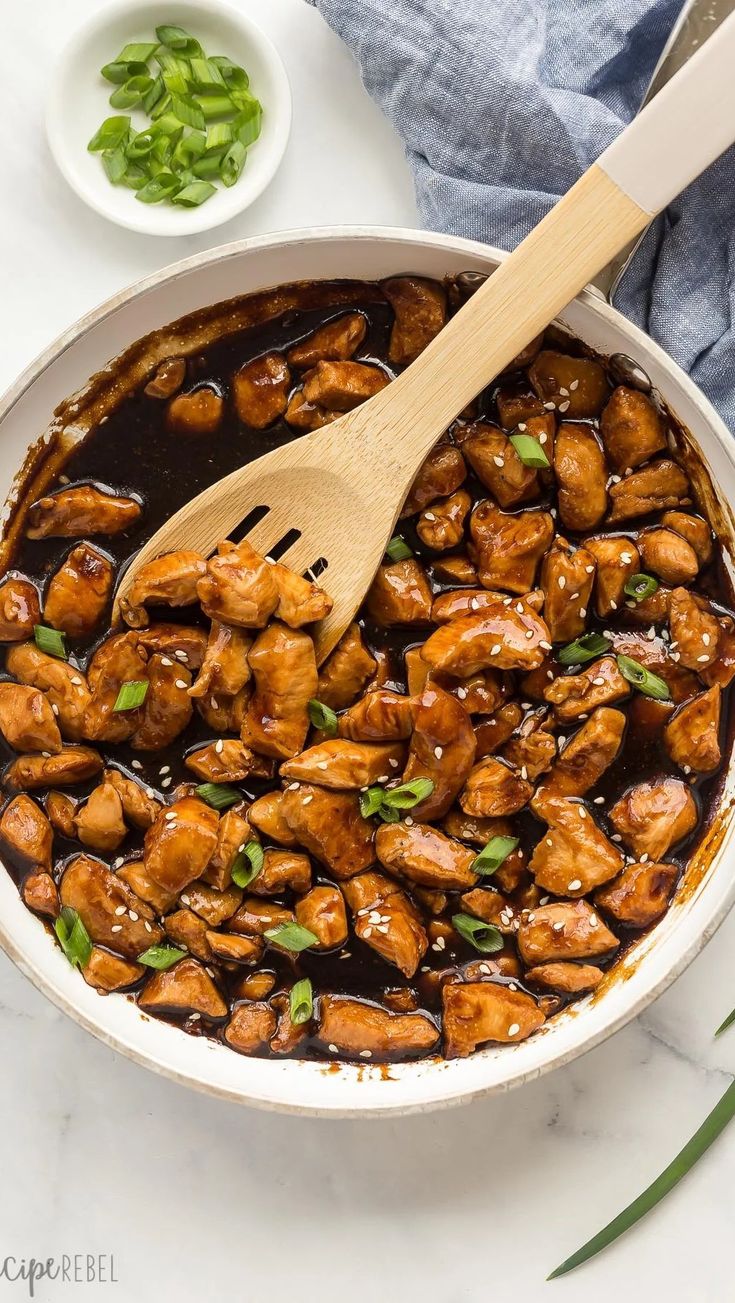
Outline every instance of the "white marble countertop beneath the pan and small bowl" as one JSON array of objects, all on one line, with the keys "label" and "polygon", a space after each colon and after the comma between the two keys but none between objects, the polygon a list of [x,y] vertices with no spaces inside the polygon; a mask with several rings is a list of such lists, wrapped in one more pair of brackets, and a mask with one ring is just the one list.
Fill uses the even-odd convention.
[{"label": "white marble countertop beneath the pan and small bowl", "polygon": [[[42,134],[47,70],[95,0],[3,7],[0,388],[56,332],[207,245],[327,222],[414,222],[400,146],[301,0],[249,0],[295,91],[285,164],[211,236],[139,237],[66,189]],[[386,14],[390,0],[386,0]],[[8,72],[10,69],[10,72]],[[0,1259],[115,1255],[119,1283],[42,1285],[42,1303],[292,1298],[725,1303],[735,1128],[622,1244],[545,1274],[653,1177],[735,1071],[735,919],[641,1019],[566,1071],[469,1108],[383,1122],[258,1114],[117,1058],[0,956]],[[27,1296],[0,1280],[0,1298]]]}]

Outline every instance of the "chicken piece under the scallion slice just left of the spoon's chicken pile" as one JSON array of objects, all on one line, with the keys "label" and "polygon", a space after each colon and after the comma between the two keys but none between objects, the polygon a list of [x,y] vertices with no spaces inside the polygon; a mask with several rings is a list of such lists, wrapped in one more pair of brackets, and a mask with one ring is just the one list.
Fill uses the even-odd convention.
[{"label": "chicken piece under the scallion slice just left of the spoon's chicken pile", "polygon": [[[124,683],[139,683],[149,675],[146,653],[136,633],[113,633],[94,653],[87,667],[91,701],[85,711],[83,735],[93,741],[128,741],[139,727],[143,713],[116,710]],[[150,691],[150,689],[149,689]]]}]

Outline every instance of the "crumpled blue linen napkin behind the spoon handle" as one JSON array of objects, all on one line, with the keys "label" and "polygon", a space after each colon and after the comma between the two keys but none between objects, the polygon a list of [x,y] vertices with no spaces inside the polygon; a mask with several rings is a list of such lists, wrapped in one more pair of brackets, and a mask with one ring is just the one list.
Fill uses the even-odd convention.
[{"label": "crumpled blue linen napkin behind the spoon handle", "polygon": [[[512,249],[637,111],[682,0],[308,0],[401,136],[429,229]],[[735,431],[735,154],[648,232],[615,306]]]}]

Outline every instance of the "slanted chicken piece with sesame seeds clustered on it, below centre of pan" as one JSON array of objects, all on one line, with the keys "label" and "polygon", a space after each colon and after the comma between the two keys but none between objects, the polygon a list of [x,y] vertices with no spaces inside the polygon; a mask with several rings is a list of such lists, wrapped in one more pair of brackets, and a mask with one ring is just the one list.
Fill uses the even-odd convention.
[{"label": "slanted chicken piece with sesame seeds clustered on it, below centre of pan", "polygon": [[354,934],[371,946],[404,977],[413,977],[429,949],[418,909],[382,873],[358,873],[344,883],[344,896],[354,916]]}]

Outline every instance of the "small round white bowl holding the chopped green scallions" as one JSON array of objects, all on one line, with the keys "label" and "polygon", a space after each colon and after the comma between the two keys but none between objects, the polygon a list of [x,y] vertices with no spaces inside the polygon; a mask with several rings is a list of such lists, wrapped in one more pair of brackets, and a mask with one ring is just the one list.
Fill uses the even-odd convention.
[{"label": "small round white bowl holding the chopped green scallions", "polygon": [[[112,185],[99,154],[87,151],[100,122],[124,112],[111,107],[115,87],[99,69],[129,42],[155,40],[162,23],[185,27],[207,55],[227,55],[241,64],[263,106],[262,132],[248,150],[240,180],[229,189],[218,186],[198,208],[141,203],[134,190]],[[132,116],[142,129],[145,115],[133,109]],[[63,175],[91,208],[130,231],[185,236],[228,222],[265,190],[288,142],[291,87],[275,46],[241,9],[222,0],[117,0],[96,9],[63,50],[52,76],[46,129]]]}]

